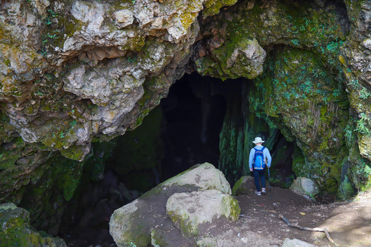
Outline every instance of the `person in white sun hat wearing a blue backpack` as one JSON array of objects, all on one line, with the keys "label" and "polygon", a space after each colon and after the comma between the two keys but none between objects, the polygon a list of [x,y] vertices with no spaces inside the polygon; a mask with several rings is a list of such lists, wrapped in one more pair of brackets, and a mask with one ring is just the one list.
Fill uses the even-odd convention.
[{"label": "person in white sun hat wearing a blue backpack", "polygon": [[[253,143],[256,145],[254,148],[250,150],[249,156],[249,168],[250,171],[254,174],[255,180],[255,193],[258,196],[261,196],[262,193],[267,193],[265,190],[265,167],[271,167],[272,157],[269,153],[268,148],[265,148],[262,143],[262,139],[260,137],[255,137]],[[260,190],[260,182],[262,184],[262,188]]]}]

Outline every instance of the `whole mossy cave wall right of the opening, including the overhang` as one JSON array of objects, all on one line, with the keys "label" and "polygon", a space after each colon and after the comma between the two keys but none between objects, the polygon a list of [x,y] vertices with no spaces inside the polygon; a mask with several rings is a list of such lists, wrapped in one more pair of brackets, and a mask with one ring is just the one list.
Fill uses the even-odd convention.
[{"label": "whole mossy cave wall right of the opening, including the overhang", "polygon": [[[203,39],[192,57],[201,75],[253,80],[251,112],[302,151],[294,157],[295,174],[340,197],[370,179],[361,151],[370,136],[368,80],[350,79],[368,73],[368,3],[242,1],[201,23]],[[352,60],[358,72],[345,57],[356,37],[363,42]]]}]

